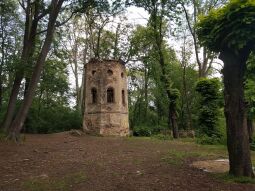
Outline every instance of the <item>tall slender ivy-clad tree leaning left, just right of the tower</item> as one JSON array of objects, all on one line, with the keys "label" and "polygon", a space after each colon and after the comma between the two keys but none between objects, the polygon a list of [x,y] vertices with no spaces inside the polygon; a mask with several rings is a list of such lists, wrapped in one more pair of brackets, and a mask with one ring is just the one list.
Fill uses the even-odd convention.
[{"label": "tall slender ivy-clad tree leaning left, just right of the tower", "polygon": [[178,126],[176,123],[177,111],[171,102],[172,98],[175,96],[171,95],[172,83],[169,78],[167,78],[166,70],[166,58],[164,55],[164,38],[166,36],[166,16],[173,19],[172,13],[174,8],[176,8],[177,2],[172,1],[134,1],[134,3],[143,7],[150,14],[150,19],[148,22],[149,27],[152,30],[153,46],[157,50],[157,59],[160,64],[160,70],[162,72],[161,80],[164,84],[164,89],[166,91],[167,97],[169,99],[169,125],[171,124],[173,130],[173,137],[178,138]]}]

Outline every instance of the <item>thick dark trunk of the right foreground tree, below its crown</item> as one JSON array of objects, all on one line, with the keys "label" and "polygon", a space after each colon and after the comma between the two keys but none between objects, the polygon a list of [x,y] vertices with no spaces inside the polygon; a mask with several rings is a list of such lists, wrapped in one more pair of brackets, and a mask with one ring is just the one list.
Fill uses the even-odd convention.
[{"label": "thick dark trunk of the right foreground tree, below its crown", "polygon": [[234,176],[253,177],[246,105],[244,101],[244,73],[249,52],[236,55],[223,50],[220,59],[224,62],[224,99],[227,124],[229,173]]}]

